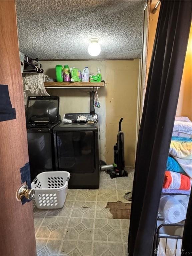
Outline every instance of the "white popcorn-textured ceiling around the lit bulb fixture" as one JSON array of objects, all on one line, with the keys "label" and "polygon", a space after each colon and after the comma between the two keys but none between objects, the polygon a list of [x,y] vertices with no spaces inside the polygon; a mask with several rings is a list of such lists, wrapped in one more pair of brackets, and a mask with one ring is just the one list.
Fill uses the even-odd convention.
[{"label": "white popcorn-textured ceiling around the lit bulb fixture", "polygon": [[[16,1],[20,51],[39,59],[140,58],[144,1]],[[100,39],[91,57],[89,39]]]}]

